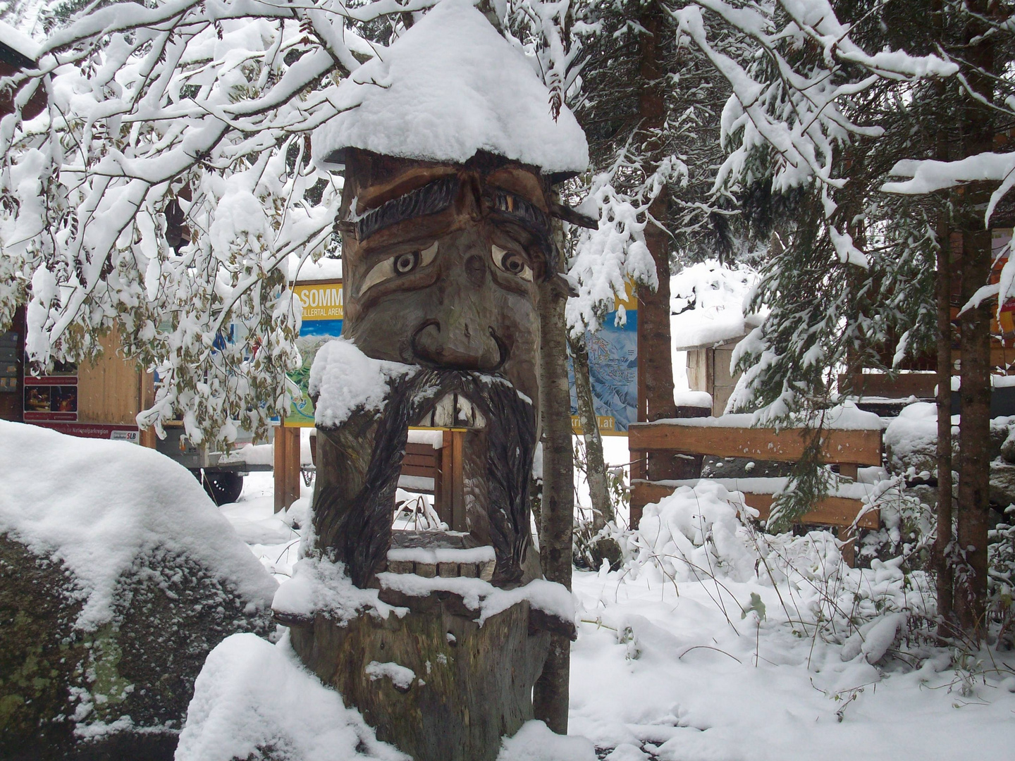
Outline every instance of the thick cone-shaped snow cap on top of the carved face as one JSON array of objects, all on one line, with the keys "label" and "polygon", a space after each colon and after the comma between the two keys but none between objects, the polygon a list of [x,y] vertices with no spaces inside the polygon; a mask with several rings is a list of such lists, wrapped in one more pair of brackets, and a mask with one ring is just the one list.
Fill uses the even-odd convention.
[{"label": "thick cone-shaped snow cap on top of the carved face", "polygon": [[[468,0],[444,0],[341,84],[349,111],[314,133],[323,166],[337,150],[461,163],[484,150],[546,172],[583,171],[589,145],[574,115]],[[332,157],[329,159],[329,157]]]}]

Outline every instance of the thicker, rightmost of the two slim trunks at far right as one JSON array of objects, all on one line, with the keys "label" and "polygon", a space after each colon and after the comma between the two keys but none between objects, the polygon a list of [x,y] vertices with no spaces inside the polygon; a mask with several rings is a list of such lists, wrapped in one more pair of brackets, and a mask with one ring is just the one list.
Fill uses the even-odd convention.
[{"label": "thicker, rightmost of the two slim trunks at far right", "polygon": [[[994,38],[980,18],[992,11],[989,0],[969,0],[965,41],[966,78],[988,102],[993,98]],[[963,153],[992,150],[994,130],[991,109],[973,97],[964,100]],[[974,183],[964,188],[962,215],[962,299],[969,299],[986,285],[991,272],[991,232],[984,224],[990,188]],[[991,309],[992,303],[967,310],[961,318],[962,423],[959,452],[958,526],[956,539],[965,560],[955,574],[955,614],[959,626],[975,640],[986,629],[987,530],[990,509],[991,425]]]}]

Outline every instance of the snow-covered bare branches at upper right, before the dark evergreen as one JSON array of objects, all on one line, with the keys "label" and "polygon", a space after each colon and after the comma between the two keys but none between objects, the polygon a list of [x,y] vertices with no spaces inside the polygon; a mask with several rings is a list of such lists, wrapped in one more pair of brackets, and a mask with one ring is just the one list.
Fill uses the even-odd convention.
[{"label": "snow-covered bare branches at upper right, before the dark evergreen", "polygon": [[[763,57],[740,62],[717,50],[708,40],[702,9],[750,40]],[[723,113],[723,140],[732,143],[740,134],[740,145],[720,168],[717,191],[756,178],[752,157],[767,152],[772,190],[784,192],[817,180],[829,214],[835,208],[831,194],[845,182],[835,172],[835,146],[855,137],[878,137],[883,131],[848,118],[845,105],[884,78],[944,77],[958,71],[956,64],[937,56],[865,53],[827,0],[777,0],[770,5],[695,0],[672,13],[681,32],[733,87]],[[819,51],[820,58],[808,51]],[[858,77],[848,64],[866,73]]]}]

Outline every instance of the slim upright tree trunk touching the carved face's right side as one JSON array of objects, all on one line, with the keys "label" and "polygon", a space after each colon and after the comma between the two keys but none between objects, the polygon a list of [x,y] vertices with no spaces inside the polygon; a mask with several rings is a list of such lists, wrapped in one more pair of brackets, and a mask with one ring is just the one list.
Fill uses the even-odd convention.
[{"label": "slim upright tree trunk touching the carved face's right side", "polygon": [[[540,408],[543,427],[543,495],[539,554],[543,575],[571,584],[571,535],[574,526],[574,453],[571,448],[570,392],[567,388],[567,294],[556,282],[539,286]],[[567,734],[570,639],[550,635],[550,651],[532,702],[536,718],[553,732]]]}]

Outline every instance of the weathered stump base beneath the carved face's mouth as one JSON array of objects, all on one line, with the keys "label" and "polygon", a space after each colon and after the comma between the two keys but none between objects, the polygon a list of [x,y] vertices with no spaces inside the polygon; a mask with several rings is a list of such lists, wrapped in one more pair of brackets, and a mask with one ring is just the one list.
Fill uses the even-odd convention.
[{"label": "weathered stump base beneath the carved face's mouth", "polygon": [[493,761],[500,738],[533,718],[551,635],[534,630],[527,602],[480,626],[454,594],[392,595],[382,586],[382,599],[409,614],[288,621],[300,660],[416,761]]}]

